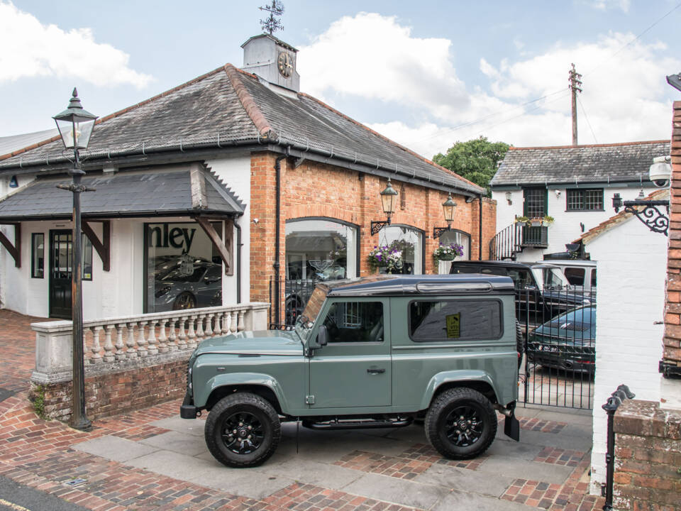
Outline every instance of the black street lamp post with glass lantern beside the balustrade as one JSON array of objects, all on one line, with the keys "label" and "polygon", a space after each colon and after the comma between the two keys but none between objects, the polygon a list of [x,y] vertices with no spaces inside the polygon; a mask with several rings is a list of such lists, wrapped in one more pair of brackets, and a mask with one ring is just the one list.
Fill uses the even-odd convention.
[{"label": "black street lamp post with glass lantern beside the balustrade", "polygon": [[57,185],[58,188],[67,189],[73,193],[73,235],[72,235],[72,263],[71,263],[71,315],[73,323],[73,388],[71,427],[87,431],[92,428],[92,423],[85,412],[85,368],[83,346],[83,299],[82,299],[82,243],[81,243],[81,219],[80,219],[80,194],[94,191],[92,188],[80,184],[84,171],[80,168],[79,150],[87,149],[87,144],[94,128],[97,116],[83,109],[78,99],[78,92],[73,89],[73,95],[69,107],[60,114],[55,115],[57,128],[62,137],[64,147],[73,150],[73,169],[71,185]]}]

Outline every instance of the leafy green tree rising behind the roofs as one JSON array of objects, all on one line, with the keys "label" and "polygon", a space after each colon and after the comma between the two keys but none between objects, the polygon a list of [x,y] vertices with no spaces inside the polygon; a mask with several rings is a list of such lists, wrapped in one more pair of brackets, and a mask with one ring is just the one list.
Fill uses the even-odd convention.
[{"label": "leafy green tree rising behind the roofs", "polygon": [[489,195],[489,181],[497,172],[507,150],[509,144],[490,142],[487,137],[481,136],[455,143],[447,150],[447,154],[433,156],[433,162],[485,188]]}]

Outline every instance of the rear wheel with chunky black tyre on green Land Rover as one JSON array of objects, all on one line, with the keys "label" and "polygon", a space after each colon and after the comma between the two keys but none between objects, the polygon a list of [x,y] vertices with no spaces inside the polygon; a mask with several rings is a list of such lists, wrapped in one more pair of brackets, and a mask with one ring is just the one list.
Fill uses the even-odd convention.
[{"label": "rear wheel with chunky black tyre on green Land Rover", "polygon": [[[467,423],[465,429],[456,429],[457,422],[453,419],[459,419],[461,415],[450,417],[454,412],[457,412],[457,415],[460,412],[465,417],[464,421]],[[471,419],[472,422],[466,419]],[[477,420],[479,424],[476,427]],[[445,390],[431,403],[426,414],[425,429],[428,441],[445,458],[475,458],[485,452],[494,441],[497,434],[497,414],[487,397],[477,390],[466,387],[453,388]],[[455,436],[456,431],[464,434],[467,431],[475,440],[467,441],[464,438],[460,441],[462,436],[453,440],[451,436]]]}]

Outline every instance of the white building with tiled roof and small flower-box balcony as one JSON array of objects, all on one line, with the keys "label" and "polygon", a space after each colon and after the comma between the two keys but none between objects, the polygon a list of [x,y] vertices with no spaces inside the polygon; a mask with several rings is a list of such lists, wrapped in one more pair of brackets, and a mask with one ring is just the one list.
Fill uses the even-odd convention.
[{"label": "white building with tiled roof and small flower-box balcony", "polygon": [[[650,192],[653,158],[669,154],[669,141],[510,148],[490,183],[497,201],[492,258],[566,256],[567,243],[612,216],[614,194],[632,200]],[[519,216],[554,221],[526,227],[514,222]]]}]

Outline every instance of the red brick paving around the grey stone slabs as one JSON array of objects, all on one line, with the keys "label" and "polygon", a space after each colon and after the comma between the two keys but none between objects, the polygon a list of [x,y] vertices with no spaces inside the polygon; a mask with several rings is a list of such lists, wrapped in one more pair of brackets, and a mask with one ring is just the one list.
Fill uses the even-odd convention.
[{"label": "red brick paving around the grey stone slabs", "polygon": [[[10,322],[20,324],[23,321],[26,325],[28,321],[40,321],[39,318],[27,321],[9,311],[0,311],[0,320],[4,326]],[[304,480],[292,483],[266,498],[246,498],[73,449],[73,446],[81,442],[104,435],[138,441],[164,434],[167,429],[151,423],[158,419],[177,417],[179,400],[96,420],[91,432],[79,432],[57,421],[45,421],[33,412],[26,393],[26,382],[33,369],[33,332],[28,328],[18,327],[13,341],[6,331],[7,328],[1,330],[0,346],[3,356],[0,362],[0,381],[8,387],[11,385],[17,394],[0,402],[0,475],[18,483],[50,493],[67,502],[101,511],[414,510],[412,507],[364,495],[323,488],[319,484],[306,484]],[[8,358],[12,363],[7,363]],[[521,419],[523,429],[551,433],[550,436],[561,432],[566,425],[564,422],[536,418]],[[516,478],[501,498],[549,511],[600,509],[603,499],[587,494],[589,456],[590,451],[547,447],[537,454],[534,461],[573,467],[565,483],[549,484]],[[482,472],[480,468],[487,459],[491,457],[481,456],[467,461],[445,460],[430,445],[413,442],[397,456],[387,456],[370,450],[351,451],[345,456],[339,456],[333,464],[358,472],[379,473],[404,480],[418,478],[433,465],[465,468],[485,478],[490,477],[490,473]],[[74,478],[84,478],[87,482],[76,488],[64,485],[65,481]]]}]

